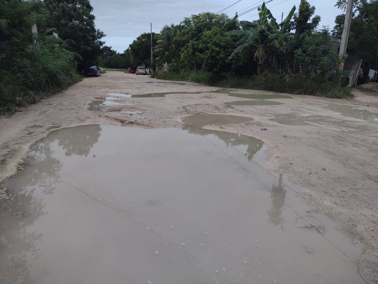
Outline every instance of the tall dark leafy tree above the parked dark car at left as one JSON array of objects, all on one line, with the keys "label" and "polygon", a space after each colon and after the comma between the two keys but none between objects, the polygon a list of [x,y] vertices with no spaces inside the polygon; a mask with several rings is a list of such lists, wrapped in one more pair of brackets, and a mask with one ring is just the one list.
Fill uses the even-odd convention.
[{"label": "tall dark leafy tree above the parked dark car at left", "polygon": [[59,37],[69,43],[68,49],[80,55],[78,70],[95,64],[101,56],[105,34],[96,29],[93,7],[89,0],[44,0],[50,11],[48,26],[56,28]]}]

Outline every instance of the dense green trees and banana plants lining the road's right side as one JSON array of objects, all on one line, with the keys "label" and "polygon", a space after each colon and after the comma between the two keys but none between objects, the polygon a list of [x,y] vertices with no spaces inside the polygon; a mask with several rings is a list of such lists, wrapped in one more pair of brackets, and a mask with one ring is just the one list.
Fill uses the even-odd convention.
[{"label": "dense green trees and banana plants lining the road's right side", "polygon": [[[345,12],[346,2],[338,0],[336,6]],[[349,75],[349,71],[338,71],[345,15],[336,17],[333,30],[319,27],[321,18],[316,16],[315,7],[304,0],[285,18],[278,16],[280,19],[263,4],[259,16],[251,22],[239,21],[237,14],[228,17],[207,12],[184,18],[178,25],[166,25],[159,34],[153,34],[156,72],[152,76],[222,87],[353,97],[349,87],[341,86],[341,76]],[[355,0],[348,48],[356,59],[363,59],[365,68],[375,70],[377,21],[378,1]],[[124,53],[113,50],[103,62],[150,66],[149,48],[149,34],[144,33]],[[334,78],[329,81],[328,75],[333,72]]]}]

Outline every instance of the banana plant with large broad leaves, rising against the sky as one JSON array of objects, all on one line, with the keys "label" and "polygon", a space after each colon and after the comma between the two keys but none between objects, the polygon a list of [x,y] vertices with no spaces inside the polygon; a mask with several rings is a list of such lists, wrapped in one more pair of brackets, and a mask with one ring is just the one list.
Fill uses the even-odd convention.
[{"label": "banana plant with large broad leaves, rising against the sky", "polygon": [[293,35],[290,33],[291,18],[296,7],[294,6],[282,23],[277,24],[272,13],[265,6],[265,2],[258,8],[259,20],[253,22],[241,21],[241,30],[228,31],[226,35],[245,35],[239,40],[240,44],[229,59],[239,55],[242,59],[253,51],[254,60],[259,61],[259,67],[263,66],[266,58],[266,51],[270,50],[277,53],[279,50],[285,51],[288,38]]}]

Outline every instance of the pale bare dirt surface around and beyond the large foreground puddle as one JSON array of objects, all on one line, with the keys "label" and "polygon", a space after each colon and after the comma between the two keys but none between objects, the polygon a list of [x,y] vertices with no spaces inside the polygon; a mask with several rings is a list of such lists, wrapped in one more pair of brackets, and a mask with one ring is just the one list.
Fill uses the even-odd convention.
[{"label": "pale bare dirt surface around and beyond the large foreground puddle", "polygon": [[[273,169],[302,186],[306,200],[376,253],[378,97],[362,92],[356,92],[354,100],[290,95],[269,99],[282,104],[252,106],[227,104],[248,99],[214,92],[217,89],[122,72],[86,78],[10,117],[0,117],[0,181],[15,173],[31,144],[59,128],[85,124],[181,127],[180,117],[194,113],[248,116],[254,121],[205,128],[263,140]],[[155,97],[163,92],[164,97]],[[110,93],[126,97],[100,105]],[[150,94],[150,98],[127,97],[138,94]]]}]

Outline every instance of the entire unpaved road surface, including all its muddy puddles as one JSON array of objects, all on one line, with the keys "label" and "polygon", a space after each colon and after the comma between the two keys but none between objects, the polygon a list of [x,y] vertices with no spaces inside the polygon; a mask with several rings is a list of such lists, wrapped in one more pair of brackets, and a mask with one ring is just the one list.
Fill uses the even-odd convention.
[{"label": "entire unpaved road surface, including all its muddy puddles", "polygon": [[0,283],[376,284],[378,97],[107,72],[0,134]]}]

